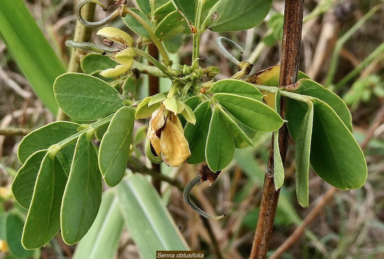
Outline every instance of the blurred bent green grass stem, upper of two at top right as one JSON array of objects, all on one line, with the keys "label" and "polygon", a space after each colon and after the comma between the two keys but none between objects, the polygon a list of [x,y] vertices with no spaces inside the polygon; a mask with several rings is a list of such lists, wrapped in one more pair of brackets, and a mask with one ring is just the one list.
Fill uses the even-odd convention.
[{"label": "blurred bent green grass stem, upper of two at top right", "polygon": [[334,75],[336,73],[336,66],[338,64],[339,53],[344,44],[349,38],[369,19],[371,16],[380,9],[379,5],[376,5],[369,12],[366,13],[352,28],[348,30],[339,40],[336,42],[335,48],[332,53],[331,63],[329,64],[328,75],[326,77],[324,86],[329,88],[333,82]]}]

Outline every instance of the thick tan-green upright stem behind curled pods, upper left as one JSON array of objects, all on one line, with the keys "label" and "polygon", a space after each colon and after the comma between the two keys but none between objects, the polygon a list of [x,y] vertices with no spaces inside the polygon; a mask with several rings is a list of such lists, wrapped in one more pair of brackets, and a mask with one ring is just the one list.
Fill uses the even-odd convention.
[{"label": "thick tan-green upright stem behind curled pods, upper left", "polygon": [[[93,21],[95,14],[96,4],[89,3],[85,5],[81,12],[83,17],[87,21]],[[76,22],[76,28],[74,30],[73,40],[76,42],[89,42],[92,38],[92,28],[86,27],[79,20]],[[73,48],[71,50],[70,62],[68,64],[67,72],[77,72],[79,69],[80,55],[84,54],[81,50]],[[63,110],[59,107],[57,112],[57,121],[69,120],[69,116],[65,114]]]}]

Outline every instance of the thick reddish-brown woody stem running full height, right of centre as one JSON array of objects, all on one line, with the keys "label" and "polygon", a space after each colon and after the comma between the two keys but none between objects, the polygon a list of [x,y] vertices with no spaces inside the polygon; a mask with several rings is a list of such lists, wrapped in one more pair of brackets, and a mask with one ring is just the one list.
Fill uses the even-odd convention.
[{"label": "thick reddish-brown woody stem running full height, right of centre", "polygon": [[[303,5],[304,0],[285,1],[279,87],[291,85],[296,83],[297,80],[300,60],[301,31],[303,28]],[[284,109],[284,100],[281,99],[280,116],[282,118],[284,118]],[[284,124],[279,130],[279,149],[283,163],[285,162],[288,138],[288,129]],[[266,171],[273,171],[273,164],[272,139],[268,168]],[[270,174],[266,174],[250,259],[264,259],[266,257],[279,193],[280,189],[276,191],[273,183],[273,174],[272,177]]]}]

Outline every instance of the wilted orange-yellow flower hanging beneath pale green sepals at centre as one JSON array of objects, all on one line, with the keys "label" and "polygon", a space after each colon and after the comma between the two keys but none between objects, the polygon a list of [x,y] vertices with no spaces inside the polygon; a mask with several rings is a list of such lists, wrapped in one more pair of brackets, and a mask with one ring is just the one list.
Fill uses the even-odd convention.
[{"label": "wilted orange-yellow flower hanging beneath pale green sepals at centre", "polygon": [[[184,106],[183,109],[180,108],[179,113],[182,110]],[[191,155],[177,111],[168,110],[164,101],[152,113],[147,137],[151,140],[156,154],[161,155],[167,166],[180,166]]]}]

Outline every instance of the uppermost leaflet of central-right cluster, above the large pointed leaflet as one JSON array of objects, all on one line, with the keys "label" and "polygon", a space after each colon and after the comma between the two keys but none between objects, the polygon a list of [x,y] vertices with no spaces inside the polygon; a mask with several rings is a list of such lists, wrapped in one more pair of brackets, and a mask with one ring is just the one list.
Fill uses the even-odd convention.
[{"label": "uppermost leaflet of central-right cluster, above the large pointed leaflet", "polygon": [[236,79],[219,80],[210,90],[214,93],[233,93],[258,101],[262,101],[264,96],[255,85]]}]

